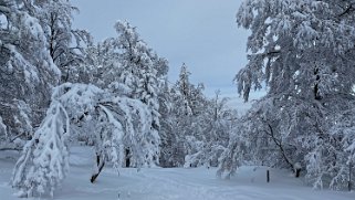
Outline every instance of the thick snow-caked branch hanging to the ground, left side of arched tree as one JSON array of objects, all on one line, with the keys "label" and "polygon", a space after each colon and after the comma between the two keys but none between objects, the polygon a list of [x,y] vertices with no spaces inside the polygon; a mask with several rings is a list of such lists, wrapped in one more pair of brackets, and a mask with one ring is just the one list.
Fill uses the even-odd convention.
[{"label": "thick snow-caked branch hanging to the ground, left side of arched tree", "polygon": [[50,194],[69,170],[66,138],[70,134],[67,114],[61,103],[52,102],[46,117],[32,139],[24,146],[12,178],[20,197]]}]

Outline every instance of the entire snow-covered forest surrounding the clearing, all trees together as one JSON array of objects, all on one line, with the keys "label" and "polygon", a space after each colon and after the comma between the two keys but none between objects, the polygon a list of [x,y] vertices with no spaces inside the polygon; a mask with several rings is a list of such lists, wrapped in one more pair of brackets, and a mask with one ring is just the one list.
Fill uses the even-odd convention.
[{"label": "entire snow-covered forest surrounding the clearing, all trees together", "polygon": [[192,84],[188,63],[171,84],[167,59],[127,21],[94,42],[73,28],[79,9],[0,0],[0,155],[21,152],[9,180],[19,197],[53,197],[76,146],[94,150],[91,182],[104,168],[205,166],[228,179],[253,165],[317,189],[354,189],[354,0],[236,8],[236,27],[250,31],[238,93],[248,102],[267,88],[243,115]]}]

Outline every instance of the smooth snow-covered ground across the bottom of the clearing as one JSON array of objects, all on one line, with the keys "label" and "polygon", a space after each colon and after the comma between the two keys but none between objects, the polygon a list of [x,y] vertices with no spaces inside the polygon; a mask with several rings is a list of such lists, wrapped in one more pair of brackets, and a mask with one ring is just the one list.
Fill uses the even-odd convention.
[{"label": "smooth snow-covered ground across the bottom of the clearing", "polygon": [[[90,149],[73,148],[71,172],[54,194],[56,200],[345,200],[354,192],[319,191],[304,186],[302,179],[286,171],[271,170],[265,182],[265,168],[243,167],[231,180],[216,177],[216,169],[121,169],[121,175],[106,168],[97,182],[90,180]],[[0,152],[0,199],[19,199],[9,186],[14,160]],[[7,154],[8,155],[8,154]],[[119,197],[118,197],[119,196]],[[39,198],[34,198],[39,199]],[[45,199],[45,198],[41,198]]]}]

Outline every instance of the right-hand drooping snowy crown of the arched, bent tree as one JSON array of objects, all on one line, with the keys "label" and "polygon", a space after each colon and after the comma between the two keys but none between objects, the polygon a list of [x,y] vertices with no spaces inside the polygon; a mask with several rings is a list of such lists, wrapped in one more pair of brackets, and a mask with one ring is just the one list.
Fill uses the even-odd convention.
[{"label": "right-hand drooping snowy crown of the arched, bent tree", "polygon": [[[124,152],[118,150],[122,150],[119,144],[123,144],[134,152],[133,166],[154,166],[158,162],[159,137],[152,128],[153,118],[147,105],[139,99],[121,96],[94,85],[63,85],[61,90],[67,88],[67,92],[58,96],[63,106],[71,109],[69,116],[72,118],[72,126],[76,124],[83,127],[83,133],[88,133],[88,140],[98,149],[97,152],[103,151],[100,148],[107,149],[105,144],[112,143],[112,148],[119,147],[115,154],[122,156]],[[107,152],[108,157],[109,155],[113,152]],[[122,159],[115,164],[124,166]]]}]

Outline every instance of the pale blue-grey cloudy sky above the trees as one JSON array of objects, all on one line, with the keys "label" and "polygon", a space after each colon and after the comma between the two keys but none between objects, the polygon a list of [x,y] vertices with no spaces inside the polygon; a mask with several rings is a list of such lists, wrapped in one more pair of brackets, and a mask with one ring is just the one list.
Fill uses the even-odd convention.
[{"label": "pale blue-grey cloudy sky above the trees", "polygon": [[127,20],[158,55],[168,59],[171,83],[186,63],[191,82],[203,83],[207,95],[220,90],[223,96],[238,96],[232,80],[247,63],[248,38],[248,32],[236,23],[241,0],[72,0],[72,3],[81,10],[74,25],[88,30],[96,41],[115,36],[114,23]]}]

